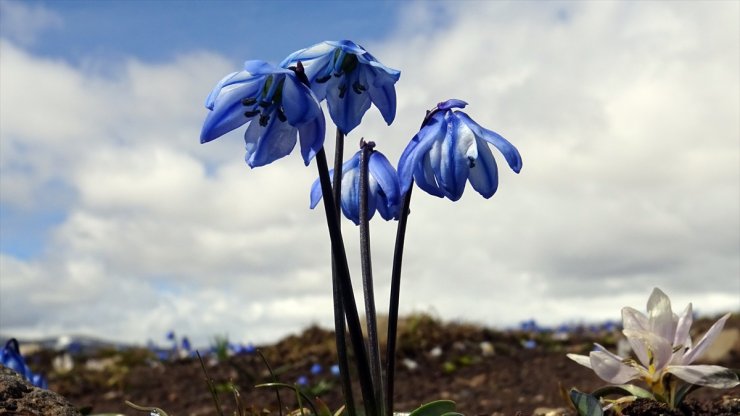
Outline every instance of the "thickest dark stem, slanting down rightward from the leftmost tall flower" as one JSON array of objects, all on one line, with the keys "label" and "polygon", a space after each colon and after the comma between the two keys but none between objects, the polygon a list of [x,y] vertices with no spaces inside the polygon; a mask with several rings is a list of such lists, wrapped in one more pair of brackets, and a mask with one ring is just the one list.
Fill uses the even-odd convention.
[{"label": "thickest dark stem, slanting down rightward from the leftmost tall flower", "polygon": [[352,291],[347,253],[344,250],[342,230],[339,228],[339,221],[337,221],[337,211],[335,209],[334,195],[332,194],[331,180],[329,178],[329,167],[326,163],[326,152],[323,147],[316,154],[316,167],[319,171],[319,181],[321,182],[321,192],[323,194],[324,210],[326,212],[326,224],[329,228],[332,253],[336,260],[334,264],[337,269],[342,303],[347,318],[349,338],[355,353],[365,414],[376,415],[377,403],[373,394],[372,376],[370,375],[370,366],[367,359],[367,352],[365,351],[365,340],[362,336],[362,326],[357,313],[357,303],[355,302],[355,295]]}]

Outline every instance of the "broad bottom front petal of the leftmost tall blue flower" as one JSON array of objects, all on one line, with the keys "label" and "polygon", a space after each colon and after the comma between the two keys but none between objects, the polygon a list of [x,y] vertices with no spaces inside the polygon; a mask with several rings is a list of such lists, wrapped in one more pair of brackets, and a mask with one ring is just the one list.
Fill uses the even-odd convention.
[{"label": "broad bottom front petal of the leftmost tall blue flower", "polygon": [[295,147],[296,133],[295,127],[278,120],[274,114],[265,127],[253,121],[244,133],[247,164],[256,168],[287,156]]}]

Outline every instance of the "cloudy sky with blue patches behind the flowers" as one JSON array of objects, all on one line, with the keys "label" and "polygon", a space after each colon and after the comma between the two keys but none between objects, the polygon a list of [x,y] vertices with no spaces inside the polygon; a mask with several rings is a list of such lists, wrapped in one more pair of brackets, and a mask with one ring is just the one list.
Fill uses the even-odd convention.
[{"label": "cloudy sky with blue patches behind the flowers", "polygon": [[[0,0],[0,334],[195,345],[332,325],[300,154],[199,143],[248,59],[352,39],[401,71],[392,163],[449,98],[522,154],[500,185],[411,202],[401,313],[492,327],[619,319],[654,287],[740,311],[740,3]],[[328,113],[327,113],[328,114]],[[330,121],[326,147],[333,154]],[[387,309],[396,223],[371,242]],[[343,224],[358,302],[358,232]]]}]

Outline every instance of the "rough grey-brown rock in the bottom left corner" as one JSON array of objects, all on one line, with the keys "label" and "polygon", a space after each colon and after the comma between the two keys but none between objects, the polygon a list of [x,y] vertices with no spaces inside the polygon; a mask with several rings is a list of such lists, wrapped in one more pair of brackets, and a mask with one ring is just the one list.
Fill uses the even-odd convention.
[{"label": "rough grey-brown rock in the bottom left corner", "polygon": [[34,387],[15,371],[0,365],[0,414],[82,416],[64,397]]}]

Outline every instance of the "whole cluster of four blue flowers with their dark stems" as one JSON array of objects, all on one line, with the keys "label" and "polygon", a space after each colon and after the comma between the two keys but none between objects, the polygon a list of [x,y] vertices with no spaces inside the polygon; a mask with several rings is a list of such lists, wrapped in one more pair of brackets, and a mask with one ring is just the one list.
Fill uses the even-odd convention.
[{"label": "whole cluster of four blue flowers with their dark stems", "polygon": [[[267,165],[287,156],[298,140],[305,164],[316,160],[319,179],[311,188],[310,206],[316,207],[323,198],[334,258],[332,283],[338,368],[350,415],[356,413],[342,334],[345,328],[354,351],[365,413],[385,416],[393,411],[400,265],[414,181],[422,190],[452,201],[460,199],[470,182],[473,189],[490,198],[498,188],[498,170],[488,145],[504,155],[514,172],[522,168],[519,151],[498,133],[481,127],[460,111],[467,103],[458,99],[440,102],[427,111],[421,129],[403,151],[397,169],[374,149],[374,142],[364,139],[360,140],[360,151],[344,161],[343,139],[360,124],[371,105],[375,105],[389,125],[395,119],[395,84],[399,78],[399,71],[381,64],[365,48],[349,40],[326,41],[301,49],[277,67],[263,61],[247,61],[242,71],[223,78],[206,99],[210,112],[200,136],[202,143],[209,142],[246,124],[244,141],[250,167]],[[329,115],[337,126],[334,161],[337,172],[329,170],[323,148],[326,128],[322,101],[326,101]],[[337,204],[345,217],[360,226],[367,339],[362,333],[354,299],[337,221]],[[376,211],[385,220],[399,220],[385,373],[381,370],[369,243],[369,220]],[[298,384],[301,382],[307,379],[300,379]]]}]

